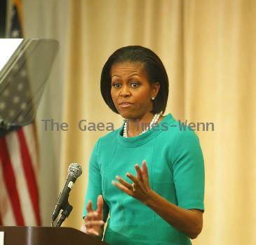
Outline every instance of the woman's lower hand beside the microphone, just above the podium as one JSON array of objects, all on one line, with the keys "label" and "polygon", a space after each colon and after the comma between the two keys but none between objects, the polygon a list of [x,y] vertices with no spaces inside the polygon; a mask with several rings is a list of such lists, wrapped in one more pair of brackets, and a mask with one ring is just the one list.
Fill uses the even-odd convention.
[{"label": "woman's lower hand beside the microphone, just above the podium", "polygon": [[93,210],[93,202],[89,201],[87,206],[87,215],[84,218],[86,234],[102,237],[103,235],[103,198],[102,195],[97,197],[97,210]]}]

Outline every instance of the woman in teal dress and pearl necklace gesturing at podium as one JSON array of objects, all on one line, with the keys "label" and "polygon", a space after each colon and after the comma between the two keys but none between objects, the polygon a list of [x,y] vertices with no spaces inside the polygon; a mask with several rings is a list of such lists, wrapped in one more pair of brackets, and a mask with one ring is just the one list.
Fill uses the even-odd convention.
[{"label": "woman in teal dress and pearl necklace gesturing at podium", "polygon": [[102,69],[101,92],[125,122],[93,148],[86,233],[102,237],[109,214],[109,244],[191,244],[203,224],[203,155],[193,131],[163,116],[168,76],[161,60],[141,46],[116,50]]}]

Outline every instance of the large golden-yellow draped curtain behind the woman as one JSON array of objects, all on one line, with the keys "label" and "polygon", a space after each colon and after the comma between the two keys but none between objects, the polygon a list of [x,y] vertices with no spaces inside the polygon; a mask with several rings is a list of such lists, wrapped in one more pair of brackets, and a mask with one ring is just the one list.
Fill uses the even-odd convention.
[{"label": "large golden-yellow draped curtain behind the woman", "polygon": [[[60,1],[57,1],[60,5]],[[114,123],[100,94],[100,73],[124,45],[144,45],[161,57],[170,80],[166,113],[195,123],[206,167],[203,231],[193,244],[256,244],[256,2],[252,0],[76,0],[67,8],[67,62],[62,74],[60,188],[71,162],[83,175],[65,225],[80,228],[93,145],[107,131],[79,130]],[[51,97],[52,101],[54,96]],[[203,130],[202,125],[210,125]]]}]

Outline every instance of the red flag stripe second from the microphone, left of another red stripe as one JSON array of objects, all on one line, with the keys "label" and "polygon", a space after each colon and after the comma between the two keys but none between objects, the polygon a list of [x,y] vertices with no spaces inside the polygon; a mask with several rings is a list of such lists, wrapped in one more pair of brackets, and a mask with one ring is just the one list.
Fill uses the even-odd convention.
[{"label": "red flag stripe second from the microphone, left of another red stripe", "polygon": [[11,200],[11,206],[15,211],[16,225],[25,225],[24,218],[22,216],[20,198],[18,195],[16,179],[13,172],[13,166],[11,165],[8,148],[6,145],[6,139],[0,138],[0,160],[3,169],[4,181],[6,183],[6,189]]}]

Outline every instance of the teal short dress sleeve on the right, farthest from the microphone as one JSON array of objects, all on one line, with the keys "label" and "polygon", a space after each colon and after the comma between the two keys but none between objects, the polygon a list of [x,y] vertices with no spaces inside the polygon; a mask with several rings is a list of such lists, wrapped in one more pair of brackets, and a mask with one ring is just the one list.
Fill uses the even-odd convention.
[{"label": "teal short dress sleeve on the right, farthest from the microphone", "polygon": [[205,172],[199,139],[193,131],[177,133],[173,147],[173,179],[179,207],[204,211]]}]

